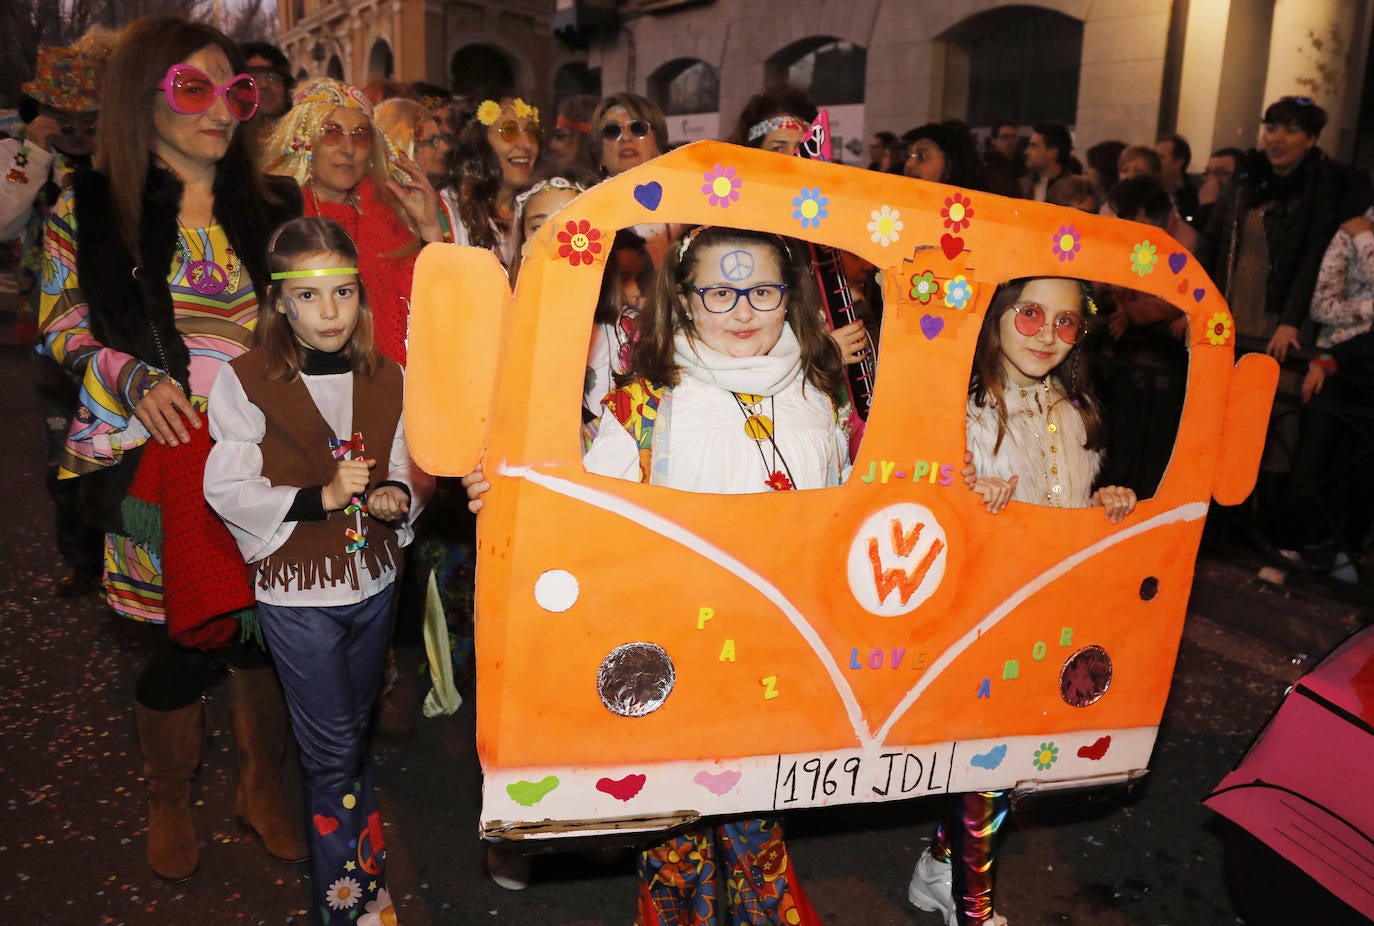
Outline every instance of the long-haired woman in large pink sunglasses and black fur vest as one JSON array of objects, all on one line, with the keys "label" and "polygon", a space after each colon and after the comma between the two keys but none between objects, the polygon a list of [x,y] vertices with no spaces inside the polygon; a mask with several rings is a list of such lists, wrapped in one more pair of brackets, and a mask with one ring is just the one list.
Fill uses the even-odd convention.
[{"label": "long-haired woman in large pink sunglasses and black fur vest", "polygon": [[242,559],[225,555],[232,537],[205,518],[199,475],[210,385],[247,349],[268,239],[301,212],[293,184],[254,166],[256,109],[253,78],[221,33],[176,16],[135,21],[106,71],[95,170],[73,177],[47,227],[41,350],[80,382],[60,475],[80,477],[87,515],[107,532],[110,606],[157,625],[135,712],[148,864],[169,881],[199,863],[191,776],[201,697],[221,664],[238,739],[235,813],[271,855],[308,855],[278,783],[280,686],[234,620],[253,589]]}]

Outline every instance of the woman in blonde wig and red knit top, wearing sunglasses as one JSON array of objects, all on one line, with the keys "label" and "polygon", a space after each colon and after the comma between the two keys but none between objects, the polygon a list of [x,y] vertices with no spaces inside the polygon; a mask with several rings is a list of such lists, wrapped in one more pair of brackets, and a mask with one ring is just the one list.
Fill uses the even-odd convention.
[{"label": "woman in blonde wig and red knit top, wearing sunglasses", "polygon": [[376,128],[363,91],[328,77],[297,91],[265,151],[268,172],[301,185],[306,216],[333,218],[357,242],[376,346],[405,365],[415,257],[451,239],[425,170]]}]

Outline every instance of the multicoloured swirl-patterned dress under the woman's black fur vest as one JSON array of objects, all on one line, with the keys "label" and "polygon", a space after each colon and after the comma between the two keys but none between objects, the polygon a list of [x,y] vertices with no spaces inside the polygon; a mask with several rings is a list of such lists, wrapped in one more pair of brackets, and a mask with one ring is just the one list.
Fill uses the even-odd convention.
[{"label": "multicoloured swirl-patterned dress under the woman's black fur vest", "polygon": [[[91,312],[77,280],[70,192],[58,199],[45,235],[38,349],[81,381],[77,414],[59,462],[59,478],[73,478],[117,464],[125,451],[148,440],[133,408],[168,374],[103,346],[92,334]],[[179,238],[168,287],[177,331],[191,353],[191,401],[203,414],[220,367],[247,350],[258,304],[247,269],[220,225],[181,228]],[[205,295],[191,287],[188,268],[201,260],[225,269],[228,286],[223,291]],[[106,534],[104,587],[114,610],[137,621],[164,622],[161,559],[143,544]]]}]

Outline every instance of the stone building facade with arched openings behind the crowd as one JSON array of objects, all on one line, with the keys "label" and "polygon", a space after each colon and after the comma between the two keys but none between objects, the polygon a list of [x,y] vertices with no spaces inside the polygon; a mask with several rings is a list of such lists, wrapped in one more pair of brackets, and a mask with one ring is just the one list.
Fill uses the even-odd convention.
[{"label": "stone building facade with arched openings behind the crowd", "polygon": [[675,143],[728,135],[790,80],[831,110],[846,161],[945,118],[1061,121],[1079,148],[1179,131],[1205,157],[1252,144],[1264,103],[1296,93],[1331,114],[1323,147],[1374,162],[1374,0],[282,0],[280,16],[300,76],[491,74],[544,104],[629,89],[665,106]]}]

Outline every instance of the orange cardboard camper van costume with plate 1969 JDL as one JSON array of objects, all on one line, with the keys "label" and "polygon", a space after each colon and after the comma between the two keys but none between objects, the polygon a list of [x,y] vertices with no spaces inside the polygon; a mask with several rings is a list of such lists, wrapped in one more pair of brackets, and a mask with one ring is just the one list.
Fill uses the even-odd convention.
[{"label": "orange cardboard camper van costume with plate 1969 JDL", "polygon": [[[878,383],[853,474],[714,496],[588,474],[585,345],[616,229],[735,225],[881,268]],[[1073,276],[1190,316],[1187,398],[1153,497],[1011,503],[959,478],[969,370],[1000,282]],[[514,297],[431,245],[405,430],[427,470],[485,460],[477,735],[484,834],[1142,775],[1208,503],[1241,501],[1278,376],[1158,229],[702,142],[609,180],[532,240]]]}]

